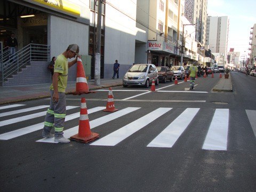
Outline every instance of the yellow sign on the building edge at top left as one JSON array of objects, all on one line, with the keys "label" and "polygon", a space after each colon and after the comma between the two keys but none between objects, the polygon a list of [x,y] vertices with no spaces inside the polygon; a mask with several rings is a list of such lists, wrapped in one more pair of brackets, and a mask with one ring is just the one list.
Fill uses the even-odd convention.
[{"label": "yellow sign on the building edge at top left", "polygon": [[33,0],[33,1],[53,7],[54,9],[57,9],[60,11],[64,11],[64,12],[68,12],[68,13],[80,16],[80,6],[65,0]]}]

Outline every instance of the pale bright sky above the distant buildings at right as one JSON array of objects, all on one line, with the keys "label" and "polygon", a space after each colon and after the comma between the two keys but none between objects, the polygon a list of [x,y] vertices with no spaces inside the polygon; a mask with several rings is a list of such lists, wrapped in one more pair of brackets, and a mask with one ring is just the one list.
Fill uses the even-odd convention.
[{"label": "pale bright sky above the distant buildings at right", "polygon": [[228,50],[234,48],[236,52],[244,54],[248,50],[251,27],[256,23],[255,0],[208,0],[208,16],[228,16],[229,37]]}]

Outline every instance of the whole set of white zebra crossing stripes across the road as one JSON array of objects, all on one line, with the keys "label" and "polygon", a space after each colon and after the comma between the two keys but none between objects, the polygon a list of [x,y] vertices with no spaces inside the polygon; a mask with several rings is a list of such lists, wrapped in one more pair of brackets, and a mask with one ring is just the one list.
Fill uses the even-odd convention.
[{"label": "whole set of white zebra crossing stripes across the road", "polygon": [[[22,109],[12,110],[15,107],[22,107]],[[36,107],[28,107],[26,105],[9,105],[0,107],[1,110],[11,109],[11,111],[7,111],[0,114],[0,129],[2,126],[11,126],[13,123],[29,121],[30,119],[42,117],[46,114],[46,109],[48,106],[36,106]],[[79,106],[67,106],[67,111],[70,109],[77,108],[76,113],[70,114],[66,116],[66,122],[71,121],[73,119],[79,118]],[[42,109],[42,112],[33,113],[34,110]],[[95,107],[92,109],[87,109],[88,114],[97,113],[102,111],[105,107]],[[115,113],[106,114],[97,119],[93,119],[90,121],[91,129],[98,127],[100,125],[106,124],[115,119],[119,119],[122,117],[129,116],[134,111],[141,109],[141,107],[127,107],[121,110],[116,111]],[[140,118],[135,119],[131,123],[119,127],[117,130],[108,133],[105,137],[99,138],[94,142],[90,143],[91,146],[115,146],[118,145],[121,141],[124,141],[129,137],[136,137],[136,133],[147,127],[150,123],[154,121],[161,121],[161,116],[163,115],[172,115],[173,108],[168,107],[160,107],[152,111],[148,111],[146,114],[143,114]],[[198,111],[200,108],[186,108],[183,110],[181,114],[178,115],[169,125],[164,127],[162,132],[158,135],[155,135],[155,138],[148,143],[145,147],[157,147],[157,148],[172,148],[173,145],[182,137],[182,133],[185,132],[187,127],[189,127],[190,123],[193,119],[198,118]],[[30,111],[30,115],[23,115],[22,113]],[[255,120],[256,119],[256,110],[245,110],[246,115],[250,121],[252,130],[254,135],[256,135],[256,127]],[[2,117],[11,116],[13,114],[21,114],[19,117],[9,118],[1,121]],[[228,131],[229,131],[229,109],[215,109],[213,117],[211,119],[210,126],[208,127],[207,134],[205,135],[204,143],[202,143],[202,149],[205,150],[227,150],[228,146]],[[78,121],[77,121],[78,122]],[[21,137],[22,135],[26,135],[35,131],[42,130],[44,126],[44,122],[39,122],[37,124],[29,125],[27,127],[19,127],[14,131],[9,131],[0,134],[0,140],[10,140]],[[74,127],[66,127],[64,131],[64,137],[70,138],[74,134],[78,132],[78,123],[77,126]],[[39,133],[41,135],[41,133]],[[44,138],[36,140],[36,142],[43,143],[55,143],[54,138]]]}]

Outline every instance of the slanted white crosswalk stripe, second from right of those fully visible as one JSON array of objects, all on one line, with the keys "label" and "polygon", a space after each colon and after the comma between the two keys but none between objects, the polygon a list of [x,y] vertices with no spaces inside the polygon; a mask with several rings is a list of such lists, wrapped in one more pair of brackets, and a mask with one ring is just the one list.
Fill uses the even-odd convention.
[{"label": "slanted white crosswalk stripe, second from right of those fully visible", "polygon": [[199,108],[187,108],[168,125],[147,147],[172,147],[196,116]]}]

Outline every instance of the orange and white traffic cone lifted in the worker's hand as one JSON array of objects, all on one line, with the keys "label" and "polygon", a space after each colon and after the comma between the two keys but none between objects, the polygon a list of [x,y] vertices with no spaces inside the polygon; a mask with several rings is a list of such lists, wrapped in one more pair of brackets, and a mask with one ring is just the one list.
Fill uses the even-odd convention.
[{"label": "orange and white traffic cone lifted in the worker's hand", "polygon": [[95,91],[89,91],[82,60],[81,58],[78,57],[77,68],[76,68],[76,92],[73,94],[81,95],[81,94],[87,94],[87,93],[95,93]]}]

